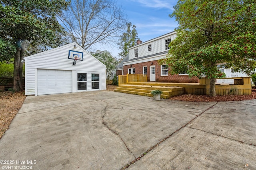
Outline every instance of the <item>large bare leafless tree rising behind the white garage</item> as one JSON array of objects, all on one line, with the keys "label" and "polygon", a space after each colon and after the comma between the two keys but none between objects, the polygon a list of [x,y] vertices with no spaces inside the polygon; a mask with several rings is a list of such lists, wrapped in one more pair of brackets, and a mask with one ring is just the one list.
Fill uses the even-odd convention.
[{"label": "large bare leafless tree rising behind the white garage", "polygon": [[72,40],[84,49],[95,43],[115,42],[126,23],[115,0],[73,0],[59,17]]}]

